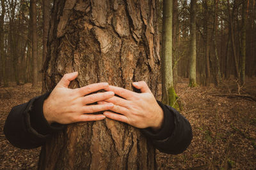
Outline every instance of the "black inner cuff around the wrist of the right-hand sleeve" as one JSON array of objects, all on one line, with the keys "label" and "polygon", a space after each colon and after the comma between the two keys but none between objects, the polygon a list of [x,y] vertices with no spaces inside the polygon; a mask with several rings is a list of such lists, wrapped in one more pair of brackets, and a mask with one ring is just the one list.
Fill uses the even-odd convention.
[{"label": "black inner cuff around the wrist of the right-hand sleeve", "polygon": [[157,101],[157,103],[159,104],[159,106],[162,108],[164,112],[164,122],[161,129],[159,129],[159,131],[157,132],[154,132],[151,128],[141,129],[141,131],[148,138],[162,140],[172,136],[175,124],[174,124],[173,114],[168,109],[168,107],[165,106],[160,101]]}]

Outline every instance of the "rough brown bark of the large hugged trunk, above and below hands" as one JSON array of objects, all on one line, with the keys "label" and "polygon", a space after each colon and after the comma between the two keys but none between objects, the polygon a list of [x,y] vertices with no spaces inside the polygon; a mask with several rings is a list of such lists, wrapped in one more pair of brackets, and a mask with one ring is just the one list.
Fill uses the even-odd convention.
[{"label": "rough brown bark of the large hugged trunk, above and below hands", "polygon": [[[156,1],[54,1],[44,81],[54,88],[78,71],[71,88],[107,81],[132,90],[144,80],[157,93],[159,37]],[[68,125],[47,141],[39,169],[155,169],[150,141],[113,120]]]}]

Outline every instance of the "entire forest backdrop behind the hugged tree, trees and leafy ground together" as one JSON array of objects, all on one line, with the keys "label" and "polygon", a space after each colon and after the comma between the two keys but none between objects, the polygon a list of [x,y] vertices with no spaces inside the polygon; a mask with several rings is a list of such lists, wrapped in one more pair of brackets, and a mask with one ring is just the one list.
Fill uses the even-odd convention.
[{"label": "entire forest backdrop behind the hugged tree, trees and leafy ground together", "polygon": [[[0,169],[36,169],[39,150],[14,148],[3,125],[13,106],[42,92],[51,8],[1,0]],[[172,14],[173,85],[194,138],[180,155],[157,153],[159,169],[256,169],[255,0],[174,0]]]}]

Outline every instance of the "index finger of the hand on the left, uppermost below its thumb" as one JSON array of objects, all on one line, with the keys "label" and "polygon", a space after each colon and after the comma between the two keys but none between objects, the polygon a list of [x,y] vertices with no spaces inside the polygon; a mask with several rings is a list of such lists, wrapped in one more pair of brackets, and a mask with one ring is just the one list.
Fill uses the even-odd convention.
[{"label": "index finger of the hand on the left, uppermost below its thumb", "polygon": [[92,92],[97,92],[98,90],[105,89],[108,87],[108,83],[94,83],[91,85],[86,85],[81,87],[78,91],[80,92],[81,96],[85,96],[86,94],[90,94]]}]

